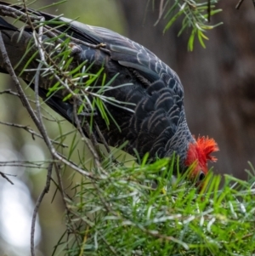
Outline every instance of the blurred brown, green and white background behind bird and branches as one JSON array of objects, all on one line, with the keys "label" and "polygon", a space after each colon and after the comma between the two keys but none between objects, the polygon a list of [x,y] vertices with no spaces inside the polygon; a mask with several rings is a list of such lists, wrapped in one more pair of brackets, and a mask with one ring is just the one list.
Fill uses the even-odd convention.
[{"label": "blurred brown, green and white background behind bird and branches", "polygon": [[[154,26],[158,3],[152,9],[151,1],[148,2],[67,0],[45,11],[65,14],[71,19],[79,17],[84,23],[118,31],[157,54],[177,71],[184,84],[184,105],[192,134],[209,135],[218,142],[220,151],[218,162],[213,164],[214,171],[246,179],[246,169],[252,169],[248,161],[255,165],[255,10],[252,1],[244,1],[241,9],[236,10],[237,1],[221,0],[218,8],[223,12],[213,16],[212,23],[223,21],[224,25],[207,33],[210,40],[206,49],[195,42],[192,53],[187,52],[190,33],[177,37],[181,20],[163,34],[165,20]],[[32,7],[51,3],[53,1],[39,0]],[[14,89],[14,85],[7,75],[1,75],[0,92],[8,88]],[[30,88],[26,88],[26,92],[33,95]],[[13,95],[0,94],[0,121],[34,128],[20,100]],[[46,124],[48,134],[56,138],[58,124]],[[73,130],[67,122],[63,122],[63,126],[65,131]],[[67,138],[67,143],[71,139]],[[0,162],[44,161],[48,157],[42,139],[34,140],[20,128],[0,124]],[[31,214],[47,172],[45,169],[1,167],[1,164],[0,170],[16,175],[11,177],[14,185],[0,177],[0,255],[30,255]],[[68,174],[66,176],[68,178]],[[69,185],[68,181],[65,185]],[[54,192],[51,186],[39,210],[37,255],[51,255],[65,230],[64,207],[60,196],[58,193],[54,196]]]}]

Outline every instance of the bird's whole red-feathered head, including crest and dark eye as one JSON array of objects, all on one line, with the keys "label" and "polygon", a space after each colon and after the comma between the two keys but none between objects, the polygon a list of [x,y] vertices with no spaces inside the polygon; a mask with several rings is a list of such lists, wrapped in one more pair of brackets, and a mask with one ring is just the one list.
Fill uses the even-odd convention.
[{"label": "bird's whole red-feathered head, including crest and dark eye", "polygon": [[198,182],[205,178],[208,172],[207,161],[217,161],[216,157],[211,156],[212,152],[215,151],[218,151],[218,145],[214,139],[198,137],[195,142],[190,142],[184,162],[186,167],[195,165],[190,178],[196,178]]}]

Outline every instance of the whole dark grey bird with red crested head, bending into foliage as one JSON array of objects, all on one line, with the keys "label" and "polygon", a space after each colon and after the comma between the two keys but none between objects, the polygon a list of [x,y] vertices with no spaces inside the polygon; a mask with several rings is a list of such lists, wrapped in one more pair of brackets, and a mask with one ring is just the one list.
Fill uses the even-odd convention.
[{"label": "whole dark grey bird with red crested head, bending into foliage", "polygon": [[[86,102],[85,107],[83,106],[82,111],[77,114],[81,126],[84,123],[82,120],[90,120],[89,118],[93,117],[108,145],[117,147],[127,141],[124,151],[141,158],[147,153],[151,159],[172,157],[175,154],[178,156],[181,172],[185,172],[192,165],[192,177],[198,177],[199,180],[205,178],[208,172],[207,162],[217,160],[212,153],[218,151],[218,144],[208,136],[198,136],[195,139],[191,134],[184,111],[184,87],[177,73],[156,54],[139,43],[103,27],[89,26],[77,20],[25,9],[3,1],[0,1],[0,9],[1,5],[20,13],[27,11],[42,18],[42,22],[48,26],[48,33],[45,31],[42,35],[46,59],[58,56],[54,59],[57,66],[64,65],[63,62],[58,62],[58,54],[61,53],[63,45],[70,49],[70,72],[65,79],[62,77],[62,80],[67,81],[64,88],[53,89],[58,80],[52,74],[42,74],[40,77],[38,94],[54,111],[74,123],[74,105],[77,104],[77,109],[81,109],[82,102]],[[17,15],[22,17],[20,13]],[[1,10],[0,14],[4,16]],[[24,22],[26,26],[19,29],[1,17],[0,31],[17,76],[34,89],[34,77],[40,56],[33,38],[34,31],[39,33],[39,21],[34,25],[27,20]],[[50,32],[61,36],[53,40]],[[83,92],[79,95],[78,103],[70,94],[70,91],[77,89],[77,84],[68,84],[68,79],[75,81],[74,74],[78,74],[78,71],[71,73],[71,69],[77,67],[79,71],[87,68],[92,74],[101,72],[94,85],[87,87],[86,77],[77,78],[80,79],[78,87]],[[8,72],[2,55],[0,72]],[[97,105],[94,110],[86,107],[91,100],[91,94],[96,94],[96,88],[102,87],[103,82],[108,84],[103,96],[111,99],[111,102],[105,102],[105,107],[112,117],[108,123]],[[89,95],[86,96],[86,93]],[[121,103],[121,106],[114,104],[116,102]],[[85,129],[84,133],[87,134]],[[101,142],[97,131],[94,130],[94,134]]]}]

